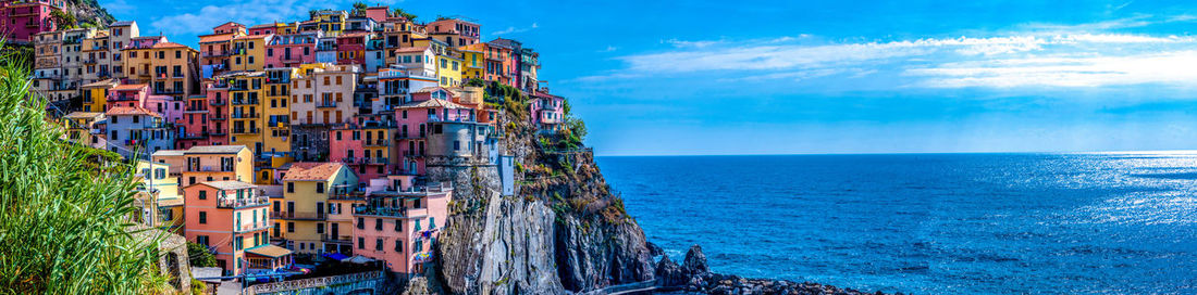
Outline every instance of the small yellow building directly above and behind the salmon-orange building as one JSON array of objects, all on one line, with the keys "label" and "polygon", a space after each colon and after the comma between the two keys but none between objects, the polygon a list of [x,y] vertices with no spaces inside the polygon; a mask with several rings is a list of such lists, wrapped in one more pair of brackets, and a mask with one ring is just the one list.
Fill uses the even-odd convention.
[{"label": "small yellow building directly above and behind the salmon-orange building", "polygon": [[202,182],[254,179],[254,154],[244,146],[198,146],[183,152],[183,186]]}]

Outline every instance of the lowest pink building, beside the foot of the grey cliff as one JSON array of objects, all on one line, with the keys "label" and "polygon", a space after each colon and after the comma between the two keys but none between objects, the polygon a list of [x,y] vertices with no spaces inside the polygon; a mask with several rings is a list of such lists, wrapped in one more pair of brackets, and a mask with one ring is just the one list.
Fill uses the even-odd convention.
[{"label": "lowest pink building, beside the foot of the grey cliff", "polygon": [[394,272],[423,274],[451,198],[448,186],[412,186],[399,179],[367,191],[366,203],[353,210],[353,252],[382,260]]}]

